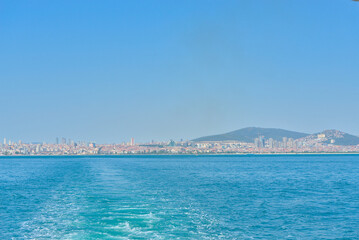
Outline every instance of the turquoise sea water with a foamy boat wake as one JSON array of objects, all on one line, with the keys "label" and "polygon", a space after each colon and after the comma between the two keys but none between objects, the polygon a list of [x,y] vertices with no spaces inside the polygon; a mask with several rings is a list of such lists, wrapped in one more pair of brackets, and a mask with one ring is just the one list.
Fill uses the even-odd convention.
[{"label": "turquoise sea water with a foamy boat wake", "polygon": [[0,158],[0,239],[359,239],[359,155]]}]

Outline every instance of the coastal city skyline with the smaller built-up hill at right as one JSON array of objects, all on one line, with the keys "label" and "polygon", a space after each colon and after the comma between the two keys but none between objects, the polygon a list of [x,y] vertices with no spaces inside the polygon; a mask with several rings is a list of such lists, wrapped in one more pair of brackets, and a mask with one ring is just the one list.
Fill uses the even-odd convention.
[{"label": "coastal city skyline with the smaller built-up hill at right", "polygon": [[[308,154],[308,153],[359,153],[359,137],[337,130],[298,137],[273,137],[259,135],[252,142],[225,141],[167,141],[151,143],[129,142],[96,144],[94,142],[66,141],[56,139],[51,143],[11,142],[4,139],[0,144],[0,156],[100,156],[100,155],[158,155],[158,154]],[[354,139],[353,139],[354,137]],[[276,140],[277,139],[277,140]]]}]

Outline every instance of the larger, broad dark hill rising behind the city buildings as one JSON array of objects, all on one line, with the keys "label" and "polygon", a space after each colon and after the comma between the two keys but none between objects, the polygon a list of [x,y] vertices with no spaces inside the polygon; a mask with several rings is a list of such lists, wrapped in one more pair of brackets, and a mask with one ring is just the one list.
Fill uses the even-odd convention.
[{"label": "larger, broad dark hill rising behind the city buildings", "polygon": [[265,138],[273,138],[277,141],[282,141],[283,137],[287,138],[304,138],[309,134],[288,131],[278,128],[258,128],[258,127],[248,127],[242,128],[233,132],[212,135],[206,137],[200,137],[194,139],[195,142],[210,142],[210,141],[239,141],[239,142],[253,142],[258,136],[264,136]]}]

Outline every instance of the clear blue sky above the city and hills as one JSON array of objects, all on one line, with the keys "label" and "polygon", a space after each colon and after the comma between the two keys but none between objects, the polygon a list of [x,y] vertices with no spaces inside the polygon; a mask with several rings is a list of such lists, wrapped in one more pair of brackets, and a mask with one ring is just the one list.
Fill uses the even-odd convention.
[{"label": "clear blue sky above the city and hills", "polygon": [[0,138],[359,135],[359,2],[0,0]]}]

